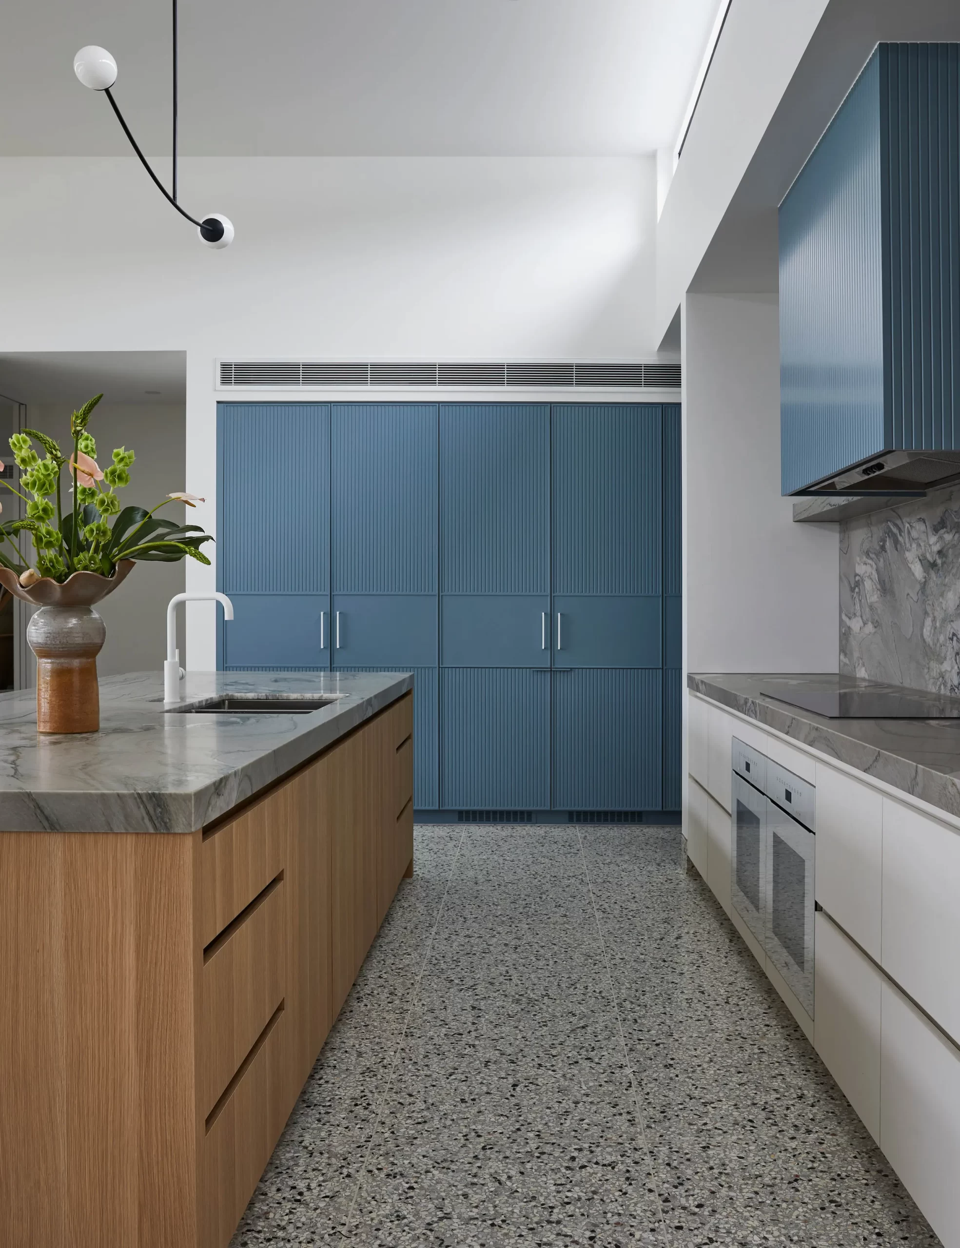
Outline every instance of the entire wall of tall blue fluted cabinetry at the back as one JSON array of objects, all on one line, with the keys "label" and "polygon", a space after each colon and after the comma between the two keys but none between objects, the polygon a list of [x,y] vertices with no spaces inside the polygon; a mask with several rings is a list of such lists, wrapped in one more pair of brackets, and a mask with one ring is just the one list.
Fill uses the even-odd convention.
[{"label": "entire wall of tall blue fluted cabinetry at the back", "polygon": [[677,810],[679,426],[221,404],[220,665],[412,669],[421,810]]}]

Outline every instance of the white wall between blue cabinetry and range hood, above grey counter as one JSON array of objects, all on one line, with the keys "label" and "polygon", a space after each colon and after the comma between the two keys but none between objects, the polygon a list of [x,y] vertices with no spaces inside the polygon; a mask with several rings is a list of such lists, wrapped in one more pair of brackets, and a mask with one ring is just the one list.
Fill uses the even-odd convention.
[{"label": "white wall between blue cabinetry and range hood, above grey counter", "polygon": [[839,533],[780,497],[776,296],[683,306],[688,671],[836,671]]}]

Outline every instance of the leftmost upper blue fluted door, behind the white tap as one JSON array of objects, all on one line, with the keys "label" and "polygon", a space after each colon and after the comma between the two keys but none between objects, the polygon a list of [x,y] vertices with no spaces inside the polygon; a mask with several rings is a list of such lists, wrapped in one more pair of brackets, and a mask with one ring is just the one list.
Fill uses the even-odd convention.
[{"label": "leftmost upper blue fluted door, behind the white tap", "polygon": [[217,458],[218,666],[328,668],[330,407],[218,403]]}]

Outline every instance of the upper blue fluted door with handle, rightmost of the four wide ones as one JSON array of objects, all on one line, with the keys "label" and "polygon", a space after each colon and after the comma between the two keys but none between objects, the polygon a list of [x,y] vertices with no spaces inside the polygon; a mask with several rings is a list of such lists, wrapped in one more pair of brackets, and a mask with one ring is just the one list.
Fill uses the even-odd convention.
[{"label": "upper blue fluted door with handle, rightmost of the four wide ones", "polygon": [[663,661],[659,404],[553,408],[556,668]]}]

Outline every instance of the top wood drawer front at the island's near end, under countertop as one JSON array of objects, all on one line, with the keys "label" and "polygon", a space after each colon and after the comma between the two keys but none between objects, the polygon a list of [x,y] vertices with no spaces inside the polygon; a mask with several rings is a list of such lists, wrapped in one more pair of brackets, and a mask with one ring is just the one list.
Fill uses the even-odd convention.
[{"label": "top wood drawer front at the island's near end, under countertop", "polygon": [[292,784],[237,819],[205,832],[200,846],[200,930],[207,946],[283,870],[295,825]]}]

